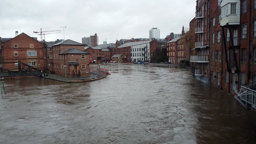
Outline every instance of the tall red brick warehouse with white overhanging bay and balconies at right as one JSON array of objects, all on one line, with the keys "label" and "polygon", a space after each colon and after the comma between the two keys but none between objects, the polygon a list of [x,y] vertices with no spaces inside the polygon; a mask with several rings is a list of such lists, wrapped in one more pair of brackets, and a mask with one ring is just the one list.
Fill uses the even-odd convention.
[{"label": "tall red brick warehouse with white overhanging bay and balconies at right", "polygon": [[196,55],[190,56],[196,79],[232,94],[254,84],[256,2],[198,0],[196,4]]}]

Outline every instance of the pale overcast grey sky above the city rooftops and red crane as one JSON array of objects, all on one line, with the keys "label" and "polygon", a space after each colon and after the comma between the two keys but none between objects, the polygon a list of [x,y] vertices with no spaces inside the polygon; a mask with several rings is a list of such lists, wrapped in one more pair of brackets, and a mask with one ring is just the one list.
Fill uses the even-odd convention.
[{"label": "pale overcast grey sky above the city rooftops and red crane", "polygon": [[[171,32],[180,34],[195,17],[196,0],[1,0],[0,37],[15,37],[15,31],[31,37],[42,30],[61,30],[45,35],[46,41],[71,39],[82,43],[82,37],[97,33],[99,44],[116,39],[148,38],[157,27],[160,37]],[[44,37],[43,37],[44,39]]]}]

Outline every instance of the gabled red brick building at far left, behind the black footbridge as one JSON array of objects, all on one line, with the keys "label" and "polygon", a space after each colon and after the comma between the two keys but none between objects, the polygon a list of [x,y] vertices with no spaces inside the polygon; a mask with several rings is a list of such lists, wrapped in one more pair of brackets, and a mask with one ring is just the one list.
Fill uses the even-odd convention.
[{"label": "gabled red brick building at far left, behind the black footbridge", "polygon": [[[36,56],[28,56],[29,51],[36,52]],[[14,52],[17,55],[14,55]],[[2,54],[4,57],[3,62],[21,61],[22,63],[29,64],[30,61],[35,61],[37,65],[33,67],[38,67],[38,64],[44,65],[42,44],[25,33],[21,33],[3,43]],[[18,69],[18,66],[15,66],[14,63],[3,64],[3,69]]]}]

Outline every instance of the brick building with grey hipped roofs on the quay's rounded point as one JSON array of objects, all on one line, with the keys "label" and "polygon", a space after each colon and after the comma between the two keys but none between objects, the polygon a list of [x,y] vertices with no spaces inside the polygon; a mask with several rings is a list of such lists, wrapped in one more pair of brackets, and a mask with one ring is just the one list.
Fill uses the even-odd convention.
[{"label": "brick building with grey hipped roofs on the quay's rounded point", "polygon": [[58,75],[80,77],[90,75],[89,53],[84,52],[84,45],[73,40],[64,40],[52,45],[53,63],[50,70]]}]

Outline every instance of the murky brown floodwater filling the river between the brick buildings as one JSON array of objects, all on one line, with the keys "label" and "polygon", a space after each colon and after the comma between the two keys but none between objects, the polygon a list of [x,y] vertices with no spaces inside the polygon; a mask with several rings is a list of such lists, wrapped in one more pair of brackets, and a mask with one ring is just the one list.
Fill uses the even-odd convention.
[{"label": "murky brown floodwater filling the river between the brick buildings", "polygon": [[0,143],[256,143],[256,112],[189,70],[105,68],[87,83],[3,79]]}]

